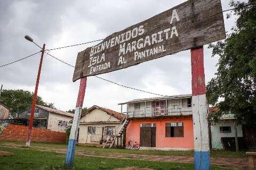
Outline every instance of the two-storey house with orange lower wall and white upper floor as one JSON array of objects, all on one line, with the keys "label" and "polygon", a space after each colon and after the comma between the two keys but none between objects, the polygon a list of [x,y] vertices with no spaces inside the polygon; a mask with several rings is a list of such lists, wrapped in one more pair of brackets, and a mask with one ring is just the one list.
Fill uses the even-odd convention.
[{"label": "two-storey house with orange lower wall and white upper floor", "polygon": [[141,149],[194,149],[191,95],[135,99],[126,105],[126,143]]}]

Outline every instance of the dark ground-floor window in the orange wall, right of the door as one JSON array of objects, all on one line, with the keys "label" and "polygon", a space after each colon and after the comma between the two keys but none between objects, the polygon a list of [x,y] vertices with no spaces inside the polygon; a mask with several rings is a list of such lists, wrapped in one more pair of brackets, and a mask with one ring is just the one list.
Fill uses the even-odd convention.
[{"label": "dark ground-floor window in the orange wall, right of the door", "polygon": [[184,137],[183,122],[165,123],[165,137]]}]

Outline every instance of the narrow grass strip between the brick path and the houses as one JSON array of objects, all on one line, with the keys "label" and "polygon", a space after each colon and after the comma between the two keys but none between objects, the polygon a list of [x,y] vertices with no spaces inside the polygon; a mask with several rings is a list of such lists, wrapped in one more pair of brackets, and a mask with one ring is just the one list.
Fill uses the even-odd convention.
[{"label": "narrow grass strip between the brick path and the houses", "polygon": [[[25,142],[13,142],[13,141],[0,141],[0,145],[25,145]],[[31,147],[49,147],[49,148],[60,148],[66,149],[66,144],[54,144],[54,143],[41,143],[31,142]],[[126,154],[141,154],[141,155],[177,155],[177,156],[194,156],[193,150],[188,151],[163,151],[163,150],[129,150],[129,149],[102,149],[97,147],[89,146],[76,146],[77,150],[93,151],[96,153],[126,153]],[[232,158],[243,158],[245,151],[226,151],[226,150],[211,150],[211,157],[232,157]]]}]

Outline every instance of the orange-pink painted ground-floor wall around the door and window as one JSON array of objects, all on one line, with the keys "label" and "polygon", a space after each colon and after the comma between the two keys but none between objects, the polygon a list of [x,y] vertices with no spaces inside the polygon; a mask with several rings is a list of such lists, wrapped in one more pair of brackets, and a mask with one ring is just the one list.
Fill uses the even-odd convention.
[{"label": "orange-pink painted ground-floor wall around the door and window", "polygon": [[[183,138],[166,138],[165,123],[183,122]],[[157,118],[148,120],[131,120],[126,129],[126,142],[129,140],[140,143],[140,124],[156,123],[156,147],[157,148],[186,148],[194,149],[193,120],[192,117]]]}]

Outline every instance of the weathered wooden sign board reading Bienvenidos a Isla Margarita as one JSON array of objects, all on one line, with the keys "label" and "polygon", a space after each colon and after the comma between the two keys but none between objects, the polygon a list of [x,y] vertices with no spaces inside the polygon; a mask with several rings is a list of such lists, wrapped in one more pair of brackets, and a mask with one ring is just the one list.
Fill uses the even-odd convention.
[{"label": "weathered wooden sign board reading Bienvenidos a Isla Margarita", "polygon": [[225,38],[220,0],[189,0],[79,52],[73,81]]}]

